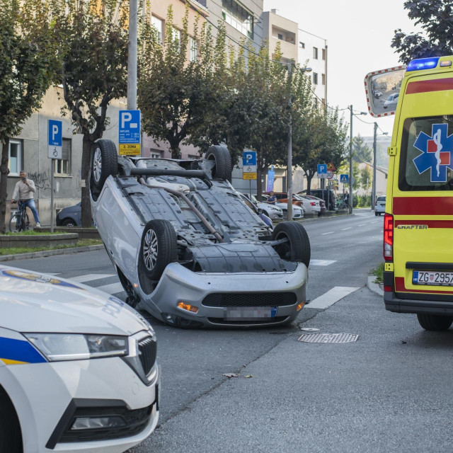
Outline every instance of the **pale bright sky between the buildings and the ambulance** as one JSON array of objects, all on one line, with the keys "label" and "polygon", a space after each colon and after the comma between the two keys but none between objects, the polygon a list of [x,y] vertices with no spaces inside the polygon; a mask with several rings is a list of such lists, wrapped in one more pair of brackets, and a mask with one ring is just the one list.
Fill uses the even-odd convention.
[{"label": "pale bright sky between the buildings and the ambulance", "polygon": [[[406,33],[415,29],[403,8],[404,0],[264,0],[264,11],[276,8],[277,14],[299,23],[299,28],[328,40],[328,105],[355,112],[367,112],[363,81],[377,69],[394,67],[398,55],[390,47],[394,30]],[[349,110],[345,118],[349,124]],[[367,114],[360,119],[377,121],[391,135],[394,120],[374,118]],[[354,118],[352,135],[373,134],[373,125]]]}]

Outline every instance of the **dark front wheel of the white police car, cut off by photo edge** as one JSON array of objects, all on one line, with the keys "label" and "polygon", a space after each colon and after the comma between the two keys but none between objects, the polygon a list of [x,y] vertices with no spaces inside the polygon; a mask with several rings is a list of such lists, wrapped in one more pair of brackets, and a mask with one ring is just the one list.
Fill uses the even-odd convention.
[{"label": "dark front wheel of the white police car, cut off by photo edge", "polygon": [[0,387],[0,452],[22,451],[21,425],[11,399]]}]

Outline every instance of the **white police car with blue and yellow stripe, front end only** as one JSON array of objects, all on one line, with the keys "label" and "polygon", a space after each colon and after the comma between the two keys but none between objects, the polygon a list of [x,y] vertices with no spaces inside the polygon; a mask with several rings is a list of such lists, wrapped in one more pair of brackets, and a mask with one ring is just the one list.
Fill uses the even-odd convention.
[{"label": "white police car with blue and yellow stripe, front end only", "polygon": [[0,452],[125,452],[158,418],[156,336],[142,316],[0,265]]}]

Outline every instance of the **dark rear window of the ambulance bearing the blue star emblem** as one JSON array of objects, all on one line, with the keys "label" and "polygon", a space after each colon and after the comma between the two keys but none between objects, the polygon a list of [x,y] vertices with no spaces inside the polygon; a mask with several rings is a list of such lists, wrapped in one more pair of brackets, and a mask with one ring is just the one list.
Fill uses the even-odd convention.
[{"label": "dark rear window of the ambulance bearing the blue star emblem", "polygon": [[398,187],[453,190],[453,116],[404,121]]}]

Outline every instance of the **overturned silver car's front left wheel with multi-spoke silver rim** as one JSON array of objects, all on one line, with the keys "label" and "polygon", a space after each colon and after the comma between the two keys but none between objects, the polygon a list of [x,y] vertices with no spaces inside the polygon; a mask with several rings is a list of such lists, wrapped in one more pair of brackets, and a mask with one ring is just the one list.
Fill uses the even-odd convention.
[{"label": "overturned silver car's front left wheel with multi-spoke silver rim", "polygon": [[139,260],[150,280],[159,280],[168,264],[178,260],[178,243],[168,220],[150,220],[144,227]]}]

